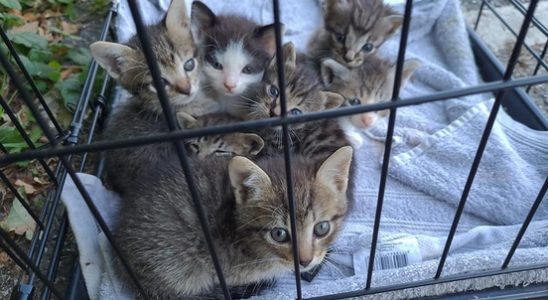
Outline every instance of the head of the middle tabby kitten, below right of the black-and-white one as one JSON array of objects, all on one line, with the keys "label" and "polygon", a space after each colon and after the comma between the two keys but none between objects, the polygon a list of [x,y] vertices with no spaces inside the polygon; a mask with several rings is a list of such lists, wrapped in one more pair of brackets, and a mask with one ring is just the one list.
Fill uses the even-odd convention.
[{"label": "head of the middle tabby kitten, below right of the black-and-white one", "polygon": [[[265,71],[261,83],[253,86],[253,95],[242,97],[246,118],[264,119],[281,115],[280,89],[285,90],[287,113],[300,115],[335,108],[342,104],[337,94],[322,91],[322,85],[316,72],[306,63],[297,63],[297,53],[292,43],[283,46],[285,86],[278,81],[276,59],[273,59]],[[293,124],[298,130],[305,123]]]}]

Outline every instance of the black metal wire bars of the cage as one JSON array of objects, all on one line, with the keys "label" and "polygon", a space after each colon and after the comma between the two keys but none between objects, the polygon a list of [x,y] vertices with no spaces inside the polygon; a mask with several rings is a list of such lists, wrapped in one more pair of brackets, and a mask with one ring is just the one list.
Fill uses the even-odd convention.
[{"label": "black metal wire bars of the cage", "polygon": [[[405,57],[407,37],[409,33],[409,24],[410,16],[413,8],[413,1],[407,0],[405,3],[405,12],[404,12],[404,22],[401,30],[401,39],[399,45],[399,52],[397,58],[397,69],[396,77],[393,89],[393,98],[390,102],[383,102],[373,105],[361,105],[361,106],[352,106],[339,108],[336,110],[323,111],[317,113],[310,113],[299,116],[289,116],[286,115],[285,107],[285,95],[284,89],[281,89],[281,105],[282,105],[282,116],[279,118],[270,118],[258,121],[245,121],[240,123],[234,123],[224,126],[213,126],[208,128],[192,129],[192,130],[177,130],[176,121],[174,118],[173,110],[168,104],[167,95],[162,88],[160,72],[156,64],[155,58],[152,55],[151,45],[148,42],[146,32],[144,31],[144,24],[141,17],[139,16],[139,11],[137,9],[137,1],[128,1],[132,15],[134,17],[137,34],[143,45],[146,62],[150,68],[150,71],[153,76],[154,84],[158,90],[158,98],[163,108],[163,113],[168,122],[170,131],[164,134],[158,134],[155,136],[145,136],[139,138],[115,140],[115,141],[95,141],[94,137],[96,131],[100,128],[101,122],[104,119],[104,116],[108,113],[108,102],[109,102],[109,92],[111,90],[112,80],[105,76],[104,79],[100,80],[98,88],[98,95],[94,95],[93,89],[94,85],[97,82],[95,79],[98,76],[98,65],[96,62],[91,62],[89,67],[89,72],[87,74],[84,88],[80,95],[80,99],[75,108],[75,112],[72,118],[72,122],[69,128],[62,128],[62,126],[57,122],[56,117],[53,115],[52,111],[48,108],[43,96],[40,94],[38,88],[32,81],[31,76],[23,66],[15,48],[10,43],[6,32],[4,29],[0,30],[0,34],[3,42],[7,46],[9,53],[0,53],[0,63],[5,69],[7,74],[10,77],[12,84],[16,87],[20,93],[20,98],[24,101],[25,105],[28,106],[30,112],[36,119],[37,123],[40,125],[43,130],[44,135],[48,139],[48,143],[40,148],[37,148],[35,144],[31,141],[20,121],[17,119],[13,109],[10,107],[6,99],[1,98],[0,104],[5,110],[7,116],[13,122],[14,126],[21,134],[22,138],[27,143],[29,150],[22,153],[8,153],[6,147],[0,144],[0,150],[4,152],[0,157],[0,179],[2,183],[13,193],[13,196],[17,198],[32,218],[36,221],[36,229],[34,237],[30,243],[28,249],[22,249],[10,235],[0,229],[0,247],[8,254],[8,256],[15,262],[21,270],[21,276],[18,284],[13,288],[12,299],[50,299],[52,296],[59,299],[86,299],[86,291],[83,283],[82,274],[80,271],[80,266],[77,260],[74,260],[72,270],[70,271],[70,277],[68,283],[66,284],[66,290],[61,291],[57,286],[56,279],[59,271],[59,264],[61,259],[61,254],[63,248],[67,244],[67,235],[70,231],[68,225],[68,219],[66,213],[64,212],[63,206],[60,205],[60,195],[63,188],[63,184],[67,177],[72,178],[79,192],[82,194],[84,201],[87,206],[90,208],[92,214],[96,218],[98,226],[105,233],[108,240],[113,246],[114,253],[118,255],[121,259],[121,262],[124,264],[128,270],[131,278],[134,281],[135,287],[139,290],[142,290],[140,283],[135,280],[131,268],[128,267],[127,261],[124,259],[124,256],[121,255],[121,250],[116,245],[116,241],[113,240],[111,231],[108,226],[101,218],[97,208],[94,206],[93,202],[90,199],[90,195],[87,193],[86,189],[80,182],[79,178],[76,176],[76,172],[82,172],[89,168],[89,154],[97,154],[97,159],[95,162],[94,174],[101,176],[103,173],[103,159],[101,153],[105,150],[121,148],[121,147],[139,147],[141,145],[159,143],[170,141],[174,142],[177,147],[177,154],[181,162],[185,177],[188,180],[189,187],[191,188],[192,197],[195,203],[196,210],[199,215],[199,219],[206,236],[206,241],[208,248],[211,253],[211,258],[213,259],[219,282],[222,286],[224,295],[226,299],[230,299],[230,294],[225,284],[225,280],[220,268],[218,258],[216,256],[216,249],[214,249],[210,233],[205,221],[204,211],[200,204],[200,201],[197,197],[197,192],[192,182],[192,170],[189,167],[187,161],[187,156],[183,147],[180,146],[180,141],[185,138],[198,137],[203,135],[212,135],[212,134],[223,134],[230,133],[235,131],[245,131],[251,128],[262,128],[266,126],[282,126],[283,128],[283,143],[284,145],[288,144],[288,125],[299,123],[299,122],[309,122],[314,120],[319,120],[322,118],[336,118],[341,116],[348,116],[351,114],[371,112],[383,109],[389,109],[389,121],[388,121],[388,132],[387,140],[385,145],[385,151],[383,156],[383,164],[381,169],[381,180],[379,183],[379,191],[377,198],[377,208],[375,212],[375,220],[373,227],[373,235],[371,240],[371,245],[377,245],[377,240],[379,237],[379,230],[381,224],[381,211],[383,207],[383,198],[385,193],[386,178],[388,173],[388,163],[390,158],[390,150],[392,144],[392,137],[394,134],[394,124],[396,120],[396,112],[398,107],[418,105],[422,103],[432,102],[432,101],[443,101],[446,99],[451,99],[454,97],[472,95],[485,92],[493,92],[495,95],[495,102],[490,112],[487,124],[481,140],[477,146],[477,152],[470,168],[466,184],[463,187],[462,197],[460,199],[459,205],[456,209],[454,219],[447,236],[443,254],[439,260],[437,272],[435,276],[429,280],[423,280],[419,282],[411,282],[406,284],[399,284],[393,286],[383,286],[383,287],[374,287],[371,285],[371,275],[373,273],[374,259],[376,247],[371,247],[371,252],[369,256],[368,272],[367,272],[367,281],[364,289],[360,289],[353,292],[346,292],[340,294],[324,295],[321,297],[315,297],[313,299],[341,299],[348,297],[356,297],[361,295],[370,295],[378,294],[387,291],[394,291],[399,289],[406,289],[411,287],[419,287],[425,285],[432,285],[444,282],[452,282],[464,279],[485,277],[485,276],[494,276],[499,274],[526,271],[540,268],[548,268],[548,262],[543,265],[531,265],[531,266],[522,266],[522,267],[509,267],[512,256],[520,244],[520,240],[525,234],[527,227],[531,220],[533,219],[537,208],[539,207],[546,191],[548,189],[548,180],[544,181],[542,188],[540,189],[536,200],[530,208],[530,211],[527,217],[523,220],[523,224],[515,237],[515,240],[508,249],[507,257],[504,261],[501,261],[500,268],[488,271],[473,272],[459,275],[449,275],[441,276],[442,270],[444,268],[445,260],[448,256],[453,237],[455,236],[460,217],[463,213],[464,206],[468,197],[468,193],[472,187],[476,171],[480,164],[485,146],[489,139],[491,129],[497,112],[501,107],[506,109],[508,113],[516,120],[521,123],[529,126],[530,128],[537,130],[548,130],[548,121],[543,117],[540,110],[532,103],[528,96],[528,92],[533,85],[545,84],[548,82],[548,74],[540,75],[541,70],[548,71],[548,65],[545,62],[544,58],[548,49],[548,24],[543,24],[541,19],[538,19],[534,16],[535,9],[538,4],[538,0],[531,0],[529,5],[526,6],[524,2],[518,0],[509,0],[511,6],[515,9],[516,13],[523,15],[524,20],[519,29],[512,28],[504,18],[497,13],[495,5],[493,5],[488,0],[482,0],[477,20],[474,24],[474,28],[468,28],[469,37],[473,47],[474,55],[476,57],[476,62],[480,69],[481,75],[485,83],[479,84],[477,86],[470,86],[456,90],[448,90],[437,92],[434,94],[411,97],[407,99],[400,99],[399,97],[399,82],[401,80],[402,66]],[[281,43],[281,27],[280,27],[280,14],[279,14],[279,1],[273,0],[273,9],[274,9],[274,19],[276,26],[276,50],[277,53],[281,54],[282,43]],[[481,26],[481,16],[485,10],[490,10],[501,22],[501,25],[507,28],[516,38],[516,42],[513,45],[513,49],[508,60],[506,67],[503,67],[500,61],[495,57],[495,55],[485,46],[481,38],[475,33],[474,29],[477,29],[478,26]],[[117,5],[113,4],[110,10],[107,13],[107,16],[104,20],[102,32],[98,40],[107,40],[109,37],[112,37],[111,26],[113,19],[116,16]],[[546,19],[544,19],[546,21]],[[525,37],[528,30],[534,27],[539,30],[543,37],[547,38],[541,53],[535,52],[529,45],[525,43]],[[514,69],[518,62],[520,51],[522,48],[525,48],[535,59],[536,66],[532,74],[527,76],[520,77],[518,79],[513,79]],[[9,59],[9,56],[13,58],[13,61]],[[279,81],[281,85],[284,85],[284,74],[283,74],[283,58],[277,56],[277,66],[279,72]],[[16,68],[19,69],[20,73],[16,71]],[[21,75],[22,74],[22,77]],[[31,91],[28,91],[24,82],[31,87]],[[31,95],[32,94],[32,95]],[[38,99],[38,103],[34,99]],[[84,119],[91,110],[91,120],[84,122]],[[83,132],[87,132],[87,138],[85,141],[80,141]],[[286,159],[286,175],[287,181],[291,181],[291,156],[288,147],[284,147],[284,155]],[[58,158],[54,167],[51,167],[46,163],[46,159],[56,157]],[[77,159],[78,158],[78,159]],[[44,207],[42,208],[39,214],[36,214],[29,207],[29,204],[26,202],[24,197],[18,192],[17,188],[14,186],[14,183],[10,182],[5,176],[3,169],[10,164],[14,164],[26,160],[37,160],[39,164],[45,169],[49,180],[51,181],[51,188],[47,193],[47,199]],[[291,231],[295,232],[295,211],[293,203],[291,184],[288,185],[288,197],[290,201],[290,220],[291,220]],[[295,236],[295,235],[293,235]],[[297,237],[298,238],[298,237]],[[295,250],[296,239],[293,239],[293,256],[295,263],[296,273],[299,274],[299,265],[298,265],[298,253]],[[295,276],[295,287],[296,287],[296,298],[302,299],[301,293],[301,282],[300,276]],[[532,289],[532,290],[531,290]],[[513,298],[522,298],[527,295],[527,297],[548,297],[548,288],[543,286],[541,288],[516,288],[516,289],[507,289],[499,290],[496,294],[478,292],[474,294],[474,297],[490,297],[493,295],[499,295],[499,293],[504,293],[508,297]],[[470,297],[471,295],[468,294]],[[458,297],[458,296],[454,296]],[[312,298],[309,298],[312,299]],[[505,298],[507,299],[507,298]]]}]

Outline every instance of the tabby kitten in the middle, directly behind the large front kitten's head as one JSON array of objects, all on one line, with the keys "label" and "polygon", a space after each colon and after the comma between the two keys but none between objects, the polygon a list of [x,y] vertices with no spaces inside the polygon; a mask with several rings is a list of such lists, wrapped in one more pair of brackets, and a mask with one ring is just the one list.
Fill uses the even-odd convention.
[{"label": "tabby kitten in the middle, directly behind the large front kitten's head", "polygon": [[[318,74],[305,61],[299,59],[292,43],[283,46],[286,85],[280,87],[276,60],[273,59],[263,81],[256,85],[253,94],[246,95],[241,113],[248,119],[278,117],[281,114],[280,88],[285,89],[288,115],[301,115],[339,107],[344,98],[322,91]],[[283,149],[282,128],[264,128],[258,131],[265,141],[262,154],[279,153]],[[335,119],[297,123],[289,126],[291,146],[303,155],[329,155],[336,149],[349,145]]]}]

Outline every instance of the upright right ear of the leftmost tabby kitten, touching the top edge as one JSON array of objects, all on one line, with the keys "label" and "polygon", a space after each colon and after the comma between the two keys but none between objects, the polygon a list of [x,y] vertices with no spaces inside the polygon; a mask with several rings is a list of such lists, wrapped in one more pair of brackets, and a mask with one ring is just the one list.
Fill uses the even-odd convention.
[{"label": "upright right ear of the leftmost tabby kitten, touching the top edge", "polygon": [[188,40],[191,38],[189,21],[185,0],[171,1],[166,14],[165,26],[167,35],[176,45],[188,46]]}]

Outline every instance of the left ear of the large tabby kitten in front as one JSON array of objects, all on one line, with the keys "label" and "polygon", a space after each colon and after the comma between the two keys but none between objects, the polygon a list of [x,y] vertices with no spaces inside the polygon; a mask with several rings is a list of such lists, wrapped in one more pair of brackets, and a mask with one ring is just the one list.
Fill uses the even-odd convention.
[{"label": "left ear of the large tabby kitten in front", "polygon": [[249,159],[235,156],[228,164],[228,176],[236,204],[254,201],[272,185],[270,177]]}]

